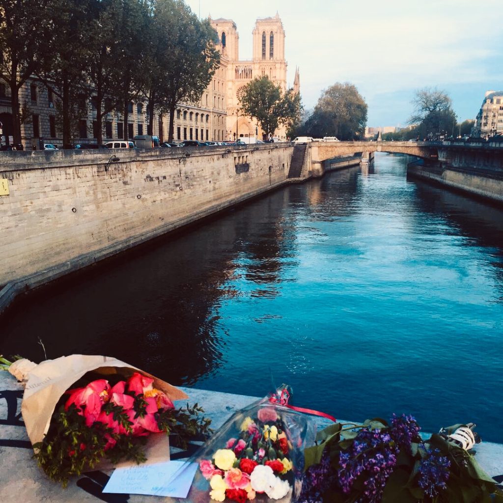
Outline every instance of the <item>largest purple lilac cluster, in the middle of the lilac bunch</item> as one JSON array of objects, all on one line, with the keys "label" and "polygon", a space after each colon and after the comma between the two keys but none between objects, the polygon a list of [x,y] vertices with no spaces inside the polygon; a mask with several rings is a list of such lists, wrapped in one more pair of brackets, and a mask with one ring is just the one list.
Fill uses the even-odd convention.
[{"label": "largest purple lilac cluster, in the middle of the lilac bunch", "polygon": [[349,493],[353,483],[362,473],[366,473],[365,490],[357,500],[359,503],[377,503],[388,477],[396,465],[398,448],[391,444],[391,437],[379,430],[361,430],[352,446],[341,452],[339,457],[338,480],[345,493]]}]

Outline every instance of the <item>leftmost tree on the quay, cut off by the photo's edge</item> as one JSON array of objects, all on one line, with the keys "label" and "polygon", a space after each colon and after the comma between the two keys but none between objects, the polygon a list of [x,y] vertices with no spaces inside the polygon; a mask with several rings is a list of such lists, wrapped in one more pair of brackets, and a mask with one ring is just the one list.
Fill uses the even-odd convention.
[{"label": "leftmost tree on the quay, cut off by the photo's edge", "polygon": [[48,57],[54,33],[51,0],[0,0],[0,78],[11,90],[14,143],[21,143],[19,90]]}]

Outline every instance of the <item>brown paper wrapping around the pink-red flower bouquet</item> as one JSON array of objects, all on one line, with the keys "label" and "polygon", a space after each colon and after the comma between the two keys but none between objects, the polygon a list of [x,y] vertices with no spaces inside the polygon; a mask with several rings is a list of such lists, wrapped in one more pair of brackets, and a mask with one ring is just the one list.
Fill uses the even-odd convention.
[{"label": "brown paper wrapping around the pink-red flower bouquet", "polygon": [[[41,442],[49,430],[52,413],[63,393],[71,389],[73,383],[90,371],[98,372],[104,379],[107,379],[107,376],[119,374],[124,380],[127,380],[134,372],[139,372],[151,377],[154,380],[153,386],[166,393],[172,400],[188,398],[175,386],[115,358],[71,355],[62,356],[56,360],[46,360],[30,370],[21,404],[23,420],[32,445]],[[147,460],[158,461],[159,456],[164,460],[169,459],[167,435],[158,433],[150,437],[152,438],[149,438],[145,449]],[[167,454],[166,446],[168,446]],[[121,463],[120,466],[124,464]]]}]

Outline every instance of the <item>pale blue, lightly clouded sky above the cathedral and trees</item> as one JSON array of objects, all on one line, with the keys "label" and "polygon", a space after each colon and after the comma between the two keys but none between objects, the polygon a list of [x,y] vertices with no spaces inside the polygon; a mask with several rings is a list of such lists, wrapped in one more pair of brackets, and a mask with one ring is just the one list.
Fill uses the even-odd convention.
[{"label": "pale blue, lightly clouded sky above the cathedral and trees", "polygon": [[488,90],[503,90],[501,0],[186,0],[201,18],[232,19],[239,58],[252,56],[257,18],[279,14],[286,33],[287,86],[300,71],[305,109],[323,90],[353,83],[369,126],[404,126],[415,91],[452,98],[458,121],[474,119]]}]

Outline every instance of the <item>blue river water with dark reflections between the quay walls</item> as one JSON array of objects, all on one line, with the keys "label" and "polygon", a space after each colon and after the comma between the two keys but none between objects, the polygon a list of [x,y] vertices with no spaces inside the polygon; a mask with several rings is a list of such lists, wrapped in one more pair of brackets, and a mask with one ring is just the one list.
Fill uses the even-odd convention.
[{"label": "blue river water with dark reflections between the quay walls", "polygon": [[60,282],[3,353],[116,356],[173,384],[425,431],[500,431],[503,211],[406,179],[403,156],[328,174]]}]

